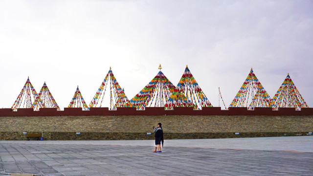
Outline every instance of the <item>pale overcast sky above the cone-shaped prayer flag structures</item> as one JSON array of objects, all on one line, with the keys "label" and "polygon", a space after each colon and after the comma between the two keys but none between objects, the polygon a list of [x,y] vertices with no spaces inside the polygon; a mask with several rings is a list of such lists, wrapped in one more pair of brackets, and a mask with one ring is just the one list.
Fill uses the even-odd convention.
[{"label": "pale overcast sky above the cone-shaped prayer flag structures", "polygon": [[[89,105],[110,66],[132,99],[157,74],[176,86],[188,65],[214,107],[251,67],[272,98],[287,74],[313,106],[312,0],[1,0],[0,108],[29,76],[61,110]],[[223,106],[221,102],[221,106]]]}]

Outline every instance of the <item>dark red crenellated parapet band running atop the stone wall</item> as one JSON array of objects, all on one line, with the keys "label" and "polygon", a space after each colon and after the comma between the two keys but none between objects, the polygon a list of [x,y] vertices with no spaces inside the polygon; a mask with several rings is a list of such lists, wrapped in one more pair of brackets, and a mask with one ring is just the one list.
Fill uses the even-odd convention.
[{"label": "dark red crenellated parapet band running atop the stone wall", "polygon": [[162,107],[151,107],[146,110],[136,110],[136,108],[117,108],[117,110],[109,110],[109,108],[91,108],[90,110],[82,110],[81,108],[64,108],[57,110],[54,108],[41,108],[39,111],[33,109],[18,109],[12,111],[10,108],[0,109],[0,116],[114,116],[114,115],[273,115],[273,116],[291,116],[291,115],[313,115],[313,108],[279,108],[272,110],[271,108],[255,108],[255,110],[247,110],[247,108],[233,108],[229,110],[221,110],[221,107],[204,107],[202,110],[193,110],[192,107],[176,107],[174,110],[165,110]]}]

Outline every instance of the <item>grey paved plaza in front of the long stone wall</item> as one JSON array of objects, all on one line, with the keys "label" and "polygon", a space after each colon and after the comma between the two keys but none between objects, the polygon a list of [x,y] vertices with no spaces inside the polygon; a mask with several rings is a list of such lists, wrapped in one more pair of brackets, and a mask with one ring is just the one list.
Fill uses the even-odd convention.
[{"label": "grey paved plaza in front of the long stone wall", "polygon": [[313,176],[313,136],[0,141],[0,176]]}]

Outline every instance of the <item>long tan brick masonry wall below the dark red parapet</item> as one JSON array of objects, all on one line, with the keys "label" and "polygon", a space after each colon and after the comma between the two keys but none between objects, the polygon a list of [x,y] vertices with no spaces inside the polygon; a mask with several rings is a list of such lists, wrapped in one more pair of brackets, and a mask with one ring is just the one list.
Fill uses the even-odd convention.
[{"label": "long tan brick masonry wall below the dark red parapet", "polygon": [[0,117],[0,140],[26,140],[22,132],[41,131],[45,140],[154,139],[152,127],[158,122],[166,139],[290,136],[313,131],[313,116],[23,116]]}]

